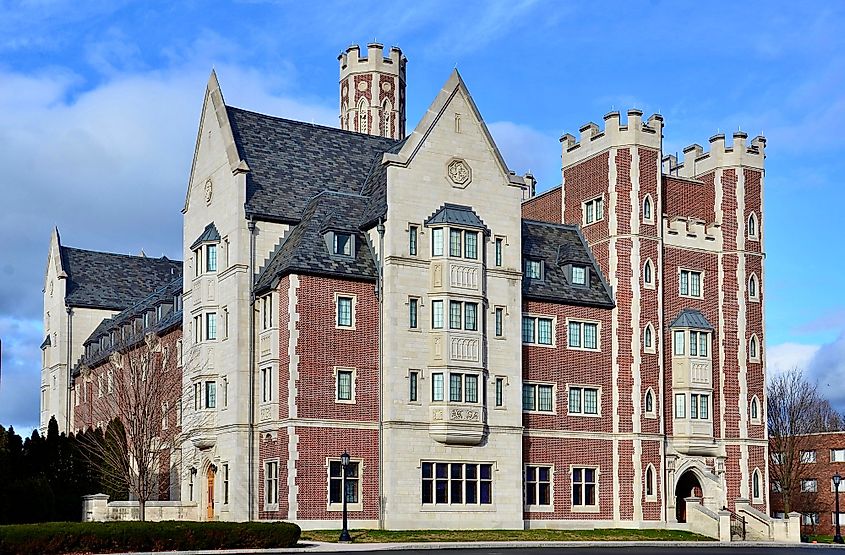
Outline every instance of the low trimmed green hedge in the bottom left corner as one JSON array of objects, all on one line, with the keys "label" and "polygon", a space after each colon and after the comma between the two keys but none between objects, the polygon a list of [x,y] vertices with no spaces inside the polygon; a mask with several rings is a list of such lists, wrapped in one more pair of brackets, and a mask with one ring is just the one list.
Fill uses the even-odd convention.
[{"label": "low trimmed green hedge in the bottom left corner", "polygon": [[293,547],[289,522],[49,522],[0,526],[4,555]]}]

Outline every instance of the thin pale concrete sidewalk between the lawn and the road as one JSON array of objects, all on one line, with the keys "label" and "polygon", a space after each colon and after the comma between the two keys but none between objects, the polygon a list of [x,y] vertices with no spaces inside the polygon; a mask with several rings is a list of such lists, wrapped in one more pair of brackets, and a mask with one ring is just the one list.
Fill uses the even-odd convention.
[{"label": "thin pale concrete sidewalk between the lawn and the road", "polygon": [[819,549],[832,548],[832,544],[812,543],[777,543],[777,542],[731,542],[721,543],[718,541],[502,541],[502,542],[419,542],[419,543],[329,543],[306,541],[296,547],[286,549],[221,549],[221,550],[199,550],[199,551],[155,551],[155,552],[131,552],[111,555],[275,555],[283,553],[345,553],[345,552],[368,552],[368,551],[412,551],[412,550],[440,550],[440,549],[519,549],[519,548],[625,548],[625,547],[707,547],[710,549],[736,549],[736,548],[764,548],[779,547],[792,549]]}]

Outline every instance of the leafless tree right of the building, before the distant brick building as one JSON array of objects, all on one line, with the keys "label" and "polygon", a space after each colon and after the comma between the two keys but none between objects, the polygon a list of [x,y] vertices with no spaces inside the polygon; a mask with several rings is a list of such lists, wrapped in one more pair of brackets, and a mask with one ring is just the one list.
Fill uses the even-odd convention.
[{"label": "leafless tree right of the building, before the distant brick building", "polygon": [[769,380],[768,428],[771,464],[770,474],[780,484],[783,508],[789,513],[807,505],[802,496],[801,481],[815,461],[810,434],[842,429],[842,417],[822,398],[817,386],[793,368]]}]

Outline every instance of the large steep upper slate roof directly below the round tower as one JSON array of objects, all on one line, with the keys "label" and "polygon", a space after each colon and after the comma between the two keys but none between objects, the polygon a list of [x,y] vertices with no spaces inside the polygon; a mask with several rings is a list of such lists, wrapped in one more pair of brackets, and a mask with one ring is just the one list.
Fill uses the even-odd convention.
[{"label": "large steep upper slate roof directly below the round tower", "polygon": [[[361,193],[397,141],[226,107],[246,161],[246,214],[295,223],[323,191]],[[379,164],[380,167],[380,164]]]}]

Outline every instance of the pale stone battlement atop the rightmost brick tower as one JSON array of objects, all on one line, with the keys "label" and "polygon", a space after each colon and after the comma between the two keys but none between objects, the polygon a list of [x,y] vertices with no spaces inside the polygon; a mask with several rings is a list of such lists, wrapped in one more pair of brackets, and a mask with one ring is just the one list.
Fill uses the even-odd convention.
[{"label": "pale stone battlement atop the rightmost brick tower", "polygon": [[763,169],[766,159],[766,138],[758,135],[746,144],[748,134],[737,131],[733,134],[731,146],[725,144],[725,134],[718,133],[710,137],[710,150],[705,151],[699,144],[684,148],[683,161],[678,163],[674,156],[663,159],[666,173],[677,173],[681,177],[696,177],[715,168],[745,166]]}]

